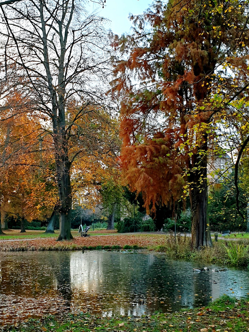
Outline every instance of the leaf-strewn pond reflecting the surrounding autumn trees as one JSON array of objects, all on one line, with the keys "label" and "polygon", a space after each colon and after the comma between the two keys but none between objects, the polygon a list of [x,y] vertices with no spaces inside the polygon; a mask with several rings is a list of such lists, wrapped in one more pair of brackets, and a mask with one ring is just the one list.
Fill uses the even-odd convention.
[{"label": "leaf-strewn pond reflecting the surrounding autumn trees", "polygon": [[203,264],[154,252],[0,253],[0,320],[65,310],[139,316],[249,293],[248,270],[196,274],[193,267]]}]

